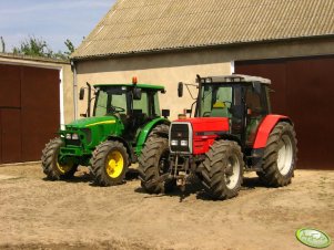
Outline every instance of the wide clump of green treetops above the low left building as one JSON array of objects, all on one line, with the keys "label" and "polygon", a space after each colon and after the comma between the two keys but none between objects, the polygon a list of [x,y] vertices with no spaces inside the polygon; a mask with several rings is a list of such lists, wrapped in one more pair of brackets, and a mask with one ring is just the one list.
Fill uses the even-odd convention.
[{"label": "wide clump of green treetops above the low left building", "polygon": [[14,54],[65,60],[70,58],[75,48],[69,39],[67,39],[64,44],[68,51],[53,52],[45,40],[32,35],[22,41],[19,46],[14,46],[12,52]]}]

